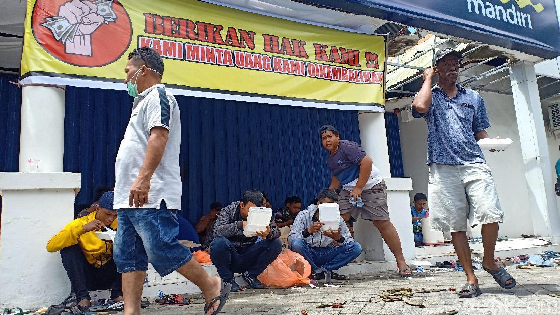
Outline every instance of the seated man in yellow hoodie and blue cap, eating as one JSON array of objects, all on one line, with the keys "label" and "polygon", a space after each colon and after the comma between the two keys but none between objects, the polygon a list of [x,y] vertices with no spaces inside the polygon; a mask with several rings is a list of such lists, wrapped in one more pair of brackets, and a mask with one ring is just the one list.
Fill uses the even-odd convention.
[{"label": "seated man in yellow hoodie and blue cap, eating", "polygon": [[113,191],[105,192],[95,212],[68,223],[46,244],[49,252],[60,251],[62,265],[72,283],[78,305],[90,307],[89,290],[111,289],[111,299],[123,300],[120,275],[113,261],[113,243],[95,231],[116,229]]}]

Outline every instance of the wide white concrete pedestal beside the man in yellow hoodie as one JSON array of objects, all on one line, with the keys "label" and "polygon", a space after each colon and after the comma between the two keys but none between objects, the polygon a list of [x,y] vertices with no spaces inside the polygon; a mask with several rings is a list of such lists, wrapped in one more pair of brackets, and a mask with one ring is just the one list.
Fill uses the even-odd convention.
[{"label": "wide white concrete pedestal beside the man in yellow hoodie", "polygon": [[71,222],[80,173],[0,173],[0,309],[62,302],[70,281],[46,243]]}]

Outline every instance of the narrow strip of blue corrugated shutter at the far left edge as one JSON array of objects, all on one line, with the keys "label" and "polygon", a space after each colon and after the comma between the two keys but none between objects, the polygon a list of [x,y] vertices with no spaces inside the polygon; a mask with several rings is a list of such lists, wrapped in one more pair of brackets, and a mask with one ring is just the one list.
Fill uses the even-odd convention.
[{"label": "narrow strip of blue corrugated shutter at the far left edge", "polygon": [[21,88],[0,77],[0,172],[19,171],[20,131]]}]

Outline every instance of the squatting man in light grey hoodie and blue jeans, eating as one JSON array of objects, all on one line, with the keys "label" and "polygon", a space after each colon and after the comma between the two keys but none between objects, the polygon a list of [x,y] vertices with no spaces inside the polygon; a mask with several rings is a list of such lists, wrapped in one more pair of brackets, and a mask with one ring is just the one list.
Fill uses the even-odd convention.
[{"label": "squatting man in light grey hoodie and blue jeans, eating", "polygon": [[332,279],[344,280],[347,277],[336,274],[334,270],[346,266],[362,253],[360,243],[354,241],[343,219],[339,221],[336,231],[321,232],[324,225],[319,218],[319,204],[334,203],[338,199],[334,190],[319,191],[317,205],[311,204],[305,211],[301,211],[293,222],[288,236],[288,248],[299,253],[311,264],[309,278],[321,280],[325,272],[332,272]]}]

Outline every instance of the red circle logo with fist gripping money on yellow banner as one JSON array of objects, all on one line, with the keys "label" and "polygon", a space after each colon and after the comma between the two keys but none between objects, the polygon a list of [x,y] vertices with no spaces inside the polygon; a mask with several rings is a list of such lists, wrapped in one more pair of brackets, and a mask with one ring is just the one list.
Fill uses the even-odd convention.
[{"label": "red circle logo with fist gripping money on yellow banner", "polygon": [[60,61],[100,67],[119,59],[132,40],[132,23],[116,0],[37,0],[31,30]]}]

